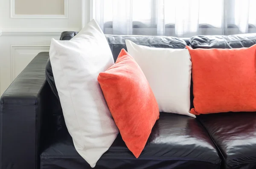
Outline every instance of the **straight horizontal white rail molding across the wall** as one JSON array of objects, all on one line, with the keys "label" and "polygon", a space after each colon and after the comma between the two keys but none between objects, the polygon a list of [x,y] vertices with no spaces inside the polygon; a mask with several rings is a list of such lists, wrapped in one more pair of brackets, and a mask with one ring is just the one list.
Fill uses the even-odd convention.
[{"label": "straight horizontal white rail molding across the wall", "polygon": [[[0,30],[0,36],[60,36],[64,31],[69,30]],[[79,29],[70,31],[78,32]]]}]

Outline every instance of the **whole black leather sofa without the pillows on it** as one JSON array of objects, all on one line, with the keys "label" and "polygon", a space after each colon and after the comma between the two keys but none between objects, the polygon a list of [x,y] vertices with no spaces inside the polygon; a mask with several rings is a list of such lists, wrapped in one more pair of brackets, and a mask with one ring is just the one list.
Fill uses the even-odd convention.
[{"label": "whole black leather sofa without the pillows on it", "polygon": [[[76,32],[63,32],[70,40]],[[256,34],[231,36],[140,37],[106,35],[113,57],[125,39],[162,48],[241,48]],[[84,46],[86,48],[86,46]],[[47,61],[48,60],[48,61]],[[46,68],[46,69],[45,69]],[[192,89],[192,86],[191,86]],[[191,100],[193,95],[191,92]],[[191,104],[193,106],[193,104]],[[0,101],[0,169],[89,169],[73,146],[64,123],[49,53],[39,53]],[[256,112],[188,116],[160,113],[138,159],[120,135],[95,169],[255,169]]]}]

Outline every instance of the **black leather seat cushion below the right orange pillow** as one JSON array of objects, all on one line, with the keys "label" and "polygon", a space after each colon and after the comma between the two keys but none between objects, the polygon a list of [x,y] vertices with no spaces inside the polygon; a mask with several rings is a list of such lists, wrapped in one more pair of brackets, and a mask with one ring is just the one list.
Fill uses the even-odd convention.
[{"label": "black leather seat cushion below the right orange pillow", "polygon": [[256,112],[199,115],[221,152],[225,169],[256,168]]}]

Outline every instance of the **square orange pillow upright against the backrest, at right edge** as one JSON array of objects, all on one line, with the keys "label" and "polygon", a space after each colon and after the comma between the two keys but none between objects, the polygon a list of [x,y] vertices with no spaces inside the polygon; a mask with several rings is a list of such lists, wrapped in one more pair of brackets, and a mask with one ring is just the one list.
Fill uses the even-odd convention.
[{"label": "square orange pillow upright against the backrest, at right edge", "polygon": [[239,49],[192,49],[194,115],[256,112],[256,45]]}]

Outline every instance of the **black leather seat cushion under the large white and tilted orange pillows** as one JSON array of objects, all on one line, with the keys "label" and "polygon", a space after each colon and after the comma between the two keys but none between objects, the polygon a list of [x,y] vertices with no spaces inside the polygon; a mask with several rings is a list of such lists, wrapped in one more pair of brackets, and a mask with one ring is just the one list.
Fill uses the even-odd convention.
[{"label": "black leather seat cushion under the large white and tilted orange pillows", "polygon": [[[90,169],[76,152],[67,130],[52,135],[41,153],[40,169]],[[220,165],[215,145],[198,120],[160,113],[139,158],[118,135],[95,169],[219,169]]]}]

